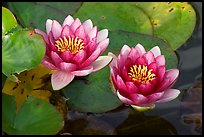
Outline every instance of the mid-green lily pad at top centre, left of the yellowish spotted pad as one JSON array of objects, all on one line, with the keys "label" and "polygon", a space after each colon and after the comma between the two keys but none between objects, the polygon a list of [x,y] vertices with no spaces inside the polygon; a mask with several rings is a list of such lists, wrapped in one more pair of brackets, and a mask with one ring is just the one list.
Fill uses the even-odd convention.
[{"label": "mid-green lily pad at top centre, left of the yellowish spotted pad", "polygon": [[152,34],[148,16],[135,5],[125,2],[86,2],[74,14],[80,20],[91,19],[99,28]]}]

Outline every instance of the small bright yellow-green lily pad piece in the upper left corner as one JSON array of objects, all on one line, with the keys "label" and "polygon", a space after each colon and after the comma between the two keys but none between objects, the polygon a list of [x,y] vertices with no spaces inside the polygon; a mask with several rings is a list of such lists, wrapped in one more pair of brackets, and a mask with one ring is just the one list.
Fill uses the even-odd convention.
[{"label": "small bright yellow-green lily pad piece in the upper left corner", "polygon": [[5,7],[2,7],[2,36],[17,26],[18,23],[11,11]]}]

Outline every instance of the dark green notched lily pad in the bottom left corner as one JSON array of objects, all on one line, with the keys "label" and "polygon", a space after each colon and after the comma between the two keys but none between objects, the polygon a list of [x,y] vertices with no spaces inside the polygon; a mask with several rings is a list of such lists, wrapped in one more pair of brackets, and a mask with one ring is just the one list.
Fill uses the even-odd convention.
[{"label": "dark green notched lily pad in the bottom left corner", "polygon": [[9,135],[54,135],[64,126],[62,115],[48,102],[28,97],[16,112],[15,98],[2,93],[2,129]]}]

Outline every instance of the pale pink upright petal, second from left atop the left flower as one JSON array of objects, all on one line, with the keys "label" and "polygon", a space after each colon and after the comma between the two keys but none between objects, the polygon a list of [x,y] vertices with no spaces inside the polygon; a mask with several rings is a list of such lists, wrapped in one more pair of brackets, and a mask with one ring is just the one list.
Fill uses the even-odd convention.
[{"label": "pale pink upright petal, second from left atop the left flower", "polygon": [[57,22],[56,20],[53,20],[51,31],[53,33],[55,40],[56,40],[61,35],[62,26],[59,24],[59,22]]}]

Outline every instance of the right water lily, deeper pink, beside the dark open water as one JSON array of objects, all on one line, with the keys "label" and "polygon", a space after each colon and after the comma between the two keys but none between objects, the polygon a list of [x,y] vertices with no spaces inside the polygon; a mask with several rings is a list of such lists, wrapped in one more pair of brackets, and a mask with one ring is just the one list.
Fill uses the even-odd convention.
[{"label": "right water lily, deeper pink, beside the dark open water", "polygon": [[124,45],[118,57],[111,52],[109,55],[113,57],[109,66],[114,93],[123,103],[143,111],[179,95],[178,89],[171,89],[179,70],[166,70],[158,46],[146,52],[141,44],[134,48]]}]

